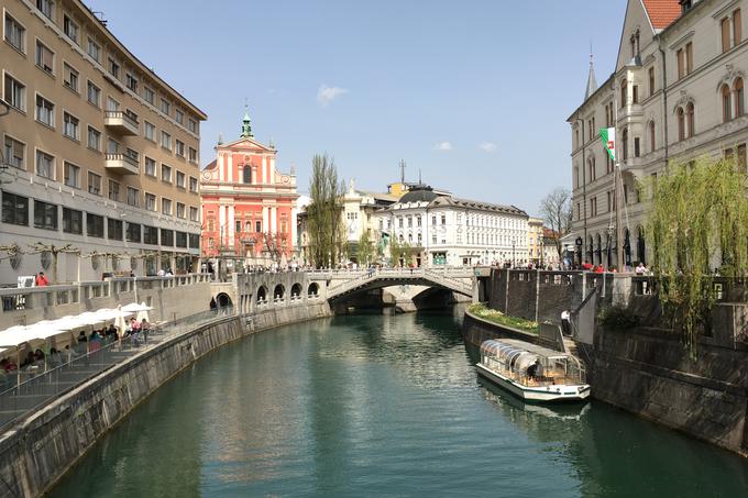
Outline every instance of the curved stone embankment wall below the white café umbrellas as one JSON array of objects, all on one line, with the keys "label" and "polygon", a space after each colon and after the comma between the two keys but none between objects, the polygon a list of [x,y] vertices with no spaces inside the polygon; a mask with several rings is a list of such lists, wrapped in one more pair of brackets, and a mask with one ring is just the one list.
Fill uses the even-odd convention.
[{"label": "curved stone embankment wall below the white caf\u00e9 umbrellas", "polygon": [[0,496],[47,490],[138,403],[210,351],[256,331],[330,314],[320,302],[227,317],[112,367],[0,436]]}]

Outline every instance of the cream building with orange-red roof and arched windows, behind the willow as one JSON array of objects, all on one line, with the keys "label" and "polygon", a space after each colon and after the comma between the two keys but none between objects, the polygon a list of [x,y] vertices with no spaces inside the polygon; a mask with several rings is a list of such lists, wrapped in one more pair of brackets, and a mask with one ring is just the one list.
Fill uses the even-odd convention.
[{"label": "cream building with orange-red roof and arched windows, behind the willow", "polygon": [[649,251],[641,230],[646,193],[637,193],[644,180],[668,162],[704,155],[734,155],[746,167],[747,7],[745,0],[628,1],[615,73],[597,88],[591,64],[584,102],[569,118],[578,258],[606,264],[609,246],[615,264],[619,245],[614,164],[600,129],[616,128],[628,264],[646,261]]}]

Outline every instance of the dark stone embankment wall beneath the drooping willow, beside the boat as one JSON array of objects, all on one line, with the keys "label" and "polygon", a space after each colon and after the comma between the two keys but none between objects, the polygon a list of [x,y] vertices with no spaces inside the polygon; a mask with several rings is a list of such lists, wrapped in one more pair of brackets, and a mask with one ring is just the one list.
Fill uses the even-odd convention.
[{"label": "dark stone embankment wall beneath the drooping willow, beside the boat", "polygon": [[666,331],[598,328],[592,396],[748,456],[746,354],[702,343],[692,358]]}]

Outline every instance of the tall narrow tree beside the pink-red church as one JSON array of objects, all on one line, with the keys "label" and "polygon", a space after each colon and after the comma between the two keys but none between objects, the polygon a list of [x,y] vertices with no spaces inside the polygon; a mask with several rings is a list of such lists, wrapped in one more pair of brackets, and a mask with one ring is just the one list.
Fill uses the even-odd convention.
[{"label": "tall narrow tree beside the pink-red church", "polygon": [[312,265],[334,266],[343,251],[343,192],[334,161],[316,155],[311,161],[311,179],[307,207],[309,254]]}]

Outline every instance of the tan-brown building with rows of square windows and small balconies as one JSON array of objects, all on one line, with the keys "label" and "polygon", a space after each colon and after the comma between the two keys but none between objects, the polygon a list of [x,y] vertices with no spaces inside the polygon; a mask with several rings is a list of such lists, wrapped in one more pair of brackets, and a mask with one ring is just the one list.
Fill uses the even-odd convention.
[{"label": "tan-brown building with rows of square windows and small balconies", "polygon": [[8,0],[2,18],[0,283],[54,259],[59,281],[194,269],[206,114],[78,0]]}]

